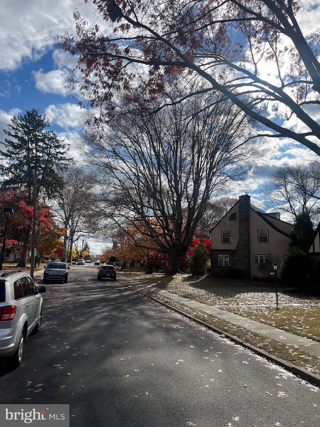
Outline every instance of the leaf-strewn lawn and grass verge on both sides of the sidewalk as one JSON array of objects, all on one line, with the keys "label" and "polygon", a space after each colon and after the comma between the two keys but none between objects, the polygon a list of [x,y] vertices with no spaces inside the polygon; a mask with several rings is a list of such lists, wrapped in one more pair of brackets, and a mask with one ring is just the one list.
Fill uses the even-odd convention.
[{"label": "leaf-strewn lawn and grass verge on both sides of the sidewalk", "polygon": [[[128,274],[128,273],[126,273]],[[129,277],[129,276],[127,276]],[[276,309],[273,283],[193,277],[187,274],[167,276],[131,272],[138,286],[156,286],[208,305],[266,323],[303,337],[320,341],[320,296],[308,296],[295,289],[279,286]],[[150,293],[150,292],[149,292]],[[152,294],[152,292],[150,293]],[[157,295],[157,298],[159,296]],[[320,359],[294,347],[273,341],[224,320],[194,312],[169,298],[160,298],[175,308],[212,324],[267,352],[320,375]]]}]

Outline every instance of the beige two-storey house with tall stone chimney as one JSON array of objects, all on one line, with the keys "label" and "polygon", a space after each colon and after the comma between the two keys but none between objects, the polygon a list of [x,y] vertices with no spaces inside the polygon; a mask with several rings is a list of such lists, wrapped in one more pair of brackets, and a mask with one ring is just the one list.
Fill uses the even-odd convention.
[{"label": "beige two-storey house with tall stone chimney", "polygon": [[211,272],[216,276],[269,277],[272,264],[281,264],[292,225],[280,214],[265,213],[245,193],[212,228]]}]

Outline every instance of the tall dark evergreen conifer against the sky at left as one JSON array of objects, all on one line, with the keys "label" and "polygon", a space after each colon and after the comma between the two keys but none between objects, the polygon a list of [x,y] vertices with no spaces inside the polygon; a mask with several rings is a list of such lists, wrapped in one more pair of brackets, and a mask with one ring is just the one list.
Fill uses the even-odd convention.
[{"label": "tall dark evergreen conifer against the sky at left", "polygon": [[6,178],[2,188],[25,188],[32,199],[34,174],[36,196],[43,192],[52,196],[61,185],[59,172],[67,168],[71,159],[65,157],[68,148],[57,139],[45,116],[38,110],[27,111],[24,116],[14,116],[7,130],[4,150],[0,150],[4,163],[0,174]]}]

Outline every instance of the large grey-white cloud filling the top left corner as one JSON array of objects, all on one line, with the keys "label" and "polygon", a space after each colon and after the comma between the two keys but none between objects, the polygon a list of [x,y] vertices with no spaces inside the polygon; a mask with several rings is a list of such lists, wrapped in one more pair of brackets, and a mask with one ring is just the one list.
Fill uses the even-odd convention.
[{"label": "large grey-white cloud filling the top left corner", "polygon": [[73,33],[73,11],[90,22],[94,7],[82,0],[1,0],[0,69],[21,67],[52,49],[56,36]]}]

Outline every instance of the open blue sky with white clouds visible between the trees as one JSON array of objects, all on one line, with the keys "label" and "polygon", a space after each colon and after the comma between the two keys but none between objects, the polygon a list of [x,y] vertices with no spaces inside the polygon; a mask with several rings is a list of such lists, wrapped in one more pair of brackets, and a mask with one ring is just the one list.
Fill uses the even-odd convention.
[{"label": "open blue sky with white clouds visible between the trees", "polygon": [[[312,25],[318,26],[319,20],[315,17],[320,17],[320,2],[308,0],[307,3],[309,10],[298,16],[302,32],[310,31]],[[0,141],[4,140],[3,129],[11,117],[35,108],[45,114],[58,138],[70,144],[70,155],[80,160],[82,150],[76,136],[81,130],[81,109],[67,86],[67,73],[74,58],[55,44],[58,34],[74,32],[74,9],[78,9],[89,23],[101,24],[94,6],[84,4],[83,0],[1,0]],[[309,150],[290,141],[271,140],[266,148],[257,174],[234,186],[232,194],[236,197],[248,192],[252,203],[261,209],[264,206],[259,184],[274,166],[314,158]],[[88,243],[93,245],[93,242]],[[104,247],[104,242],[96,247],[98,251]]]}]

